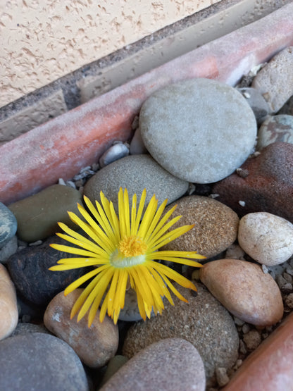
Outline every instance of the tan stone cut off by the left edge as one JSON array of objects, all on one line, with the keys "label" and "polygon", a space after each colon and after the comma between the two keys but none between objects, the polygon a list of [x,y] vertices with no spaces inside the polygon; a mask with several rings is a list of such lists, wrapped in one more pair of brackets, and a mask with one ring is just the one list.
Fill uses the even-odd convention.
[{"label": "tan stone cut off by the left edge", "polygon": [[0,340],[8,337],[18,324],[18,306],[13,282],[0,263]]}]

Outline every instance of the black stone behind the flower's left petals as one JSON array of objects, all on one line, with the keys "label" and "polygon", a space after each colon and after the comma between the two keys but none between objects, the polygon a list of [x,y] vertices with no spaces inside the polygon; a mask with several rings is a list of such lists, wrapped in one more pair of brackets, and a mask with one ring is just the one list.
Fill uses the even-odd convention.
[{"label": "black stone behind the flower's left petals", "polygon": [[49,271],[59,259],[75,256],[52,249],[51,243],[68,244],[60,237],[51,237],[40,246],[26,247],[13,254],[7,261],[16,289],[29,302],[39,306],[46,306],[58,292],[85,273],[83,268]]}]

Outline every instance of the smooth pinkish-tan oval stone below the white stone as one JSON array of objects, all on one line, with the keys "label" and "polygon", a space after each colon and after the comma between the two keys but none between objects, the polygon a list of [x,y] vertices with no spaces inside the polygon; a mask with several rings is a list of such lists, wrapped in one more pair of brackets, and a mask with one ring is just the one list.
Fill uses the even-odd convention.
[{"label": "smooth pinkish-tan oval stone below the white stone", "polygon": [[283,315],[280,289],[261,266],[239,259],[220,259],[200,270],[201,282],[237,318],[254,325],[273,325]]}]

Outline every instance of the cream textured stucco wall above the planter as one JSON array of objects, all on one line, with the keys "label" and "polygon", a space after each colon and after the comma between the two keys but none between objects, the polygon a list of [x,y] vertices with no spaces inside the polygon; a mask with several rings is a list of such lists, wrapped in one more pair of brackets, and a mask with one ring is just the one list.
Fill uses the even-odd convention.
[{"label": "cream textured stucco wall above the planter", "polygon": [[0,0],[0,107],[220,0]]}]

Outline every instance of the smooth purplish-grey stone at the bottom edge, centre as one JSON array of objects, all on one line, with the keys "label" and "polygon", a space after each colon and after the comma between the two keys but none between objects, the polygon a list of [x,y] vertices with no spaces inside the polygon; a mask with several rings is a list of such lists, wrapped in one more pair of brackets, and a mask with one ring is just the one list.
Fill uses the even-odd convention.
[{"label": "smooth purplish-grey stone at the bottom edge, centre", "polygon": [[197,349],[182,338],[166,338],[127,361],[101,391],[204,391],[205,385],[204,364]]}]

